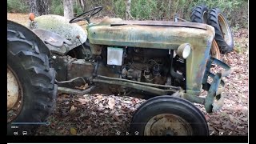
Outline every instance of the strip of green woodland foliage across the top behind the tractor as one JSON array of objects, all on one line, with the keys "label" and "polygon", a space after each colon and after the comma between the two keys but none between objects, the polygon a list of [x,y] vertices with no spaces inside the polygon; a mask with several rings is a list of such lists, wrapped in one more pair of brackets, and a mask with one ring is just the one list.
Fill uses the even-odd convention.
[{"label": "strip of green woodland foliage across the top behind the tractor", "polygon": [[[28,12],[28,0],[7,0],[7,12]],[[204,4],[209,9],[218,7],[231,26],[248,26],[248,0],[131,0],[130,14],[140,20],[172,20],[174,14],[190,21],[194,6]],[[126,0],[86,0],[86,10],[103,6],[100,16],[126,18]],[[82,14],[81,6],[74,4],[74,14]],[[63,15],[62,0],[50,1],[50,13]]]}]

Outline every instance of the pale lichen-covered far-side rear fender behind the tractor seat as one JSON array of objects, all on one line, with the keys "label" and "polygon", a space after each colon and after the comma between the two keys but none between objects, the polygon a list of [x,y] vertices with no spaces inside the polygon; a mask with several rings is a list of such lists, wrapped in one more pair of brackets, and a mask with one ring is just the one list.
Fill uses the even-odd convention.
[{"label": "pale lichen-covered far-side rear fender behind the tractor seat", "polygon": [[[30,22],[29,27],[30,29],[47,30],[58,34],[62,38],[66,38],[72,43],[72,45],[69,45],[69,50],[82,45],[87,39],[87,32],[82,26],[79,26],[77,23],[70,23],[69,19],[60,15],[47,14],[39,16]],[[44,37],[47,37],[47,35]]]}]

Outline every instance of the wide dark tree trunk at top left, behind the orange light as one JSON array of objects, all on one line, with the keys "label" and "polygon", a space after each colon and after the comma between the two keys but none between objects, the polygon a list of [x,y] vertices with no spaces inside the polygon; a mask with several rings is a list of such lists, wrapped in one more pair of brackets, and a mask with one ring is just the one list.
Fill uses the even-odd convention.
[{"label": "wide dark tree trunk at top left, behind the orange light", "polygon": [[49,14],[49,0],[30,0],[30,12],[36,17]]}]

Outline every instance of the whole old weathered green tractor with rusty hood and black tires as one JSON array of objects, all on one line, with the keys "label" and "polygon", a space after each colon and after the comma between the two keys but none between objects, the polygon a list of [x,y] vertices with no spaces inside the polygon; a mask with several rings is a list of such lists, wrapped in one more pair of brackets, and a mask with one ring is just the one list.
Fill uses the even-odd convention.
[{"label": "whole old weathered green tractor with rusty hood and black tires", "polygon": [[[32,18],[31,30],[7,22],[8,132],[45,122],[58,84],[67,94],[103,93],[105,87],[111,94],[146,95],[132,118],[130,134],[208,135],[206,118],[194,103],[208,113],[219,110],[222,77],[230,72],[230,66],[210,56],[214,27],[120,18],[91,23],[100,10],[95,7],[70,21],[54,15]],[[50,25],[44,25],[43,18]],[[78,21],[88,22],[86,31],[74,23]],[[223,70],[213,73],[213,64]],[[87,89],[75,89],[74,84]],[[205,96],[199,96],[202,90]]]}]

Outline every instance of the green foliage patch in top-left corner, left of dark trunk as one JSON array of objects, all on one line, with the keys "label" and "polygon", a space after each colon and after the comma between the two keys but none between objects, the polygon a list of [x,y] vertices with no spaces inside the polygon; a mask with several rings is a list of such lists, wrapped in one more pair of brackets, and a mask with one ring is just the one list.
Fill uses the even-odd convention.
[{"label": "green foliage patch in top-left corner, left of dark trunk", "polygon": [[7,12],[10,13],[26,13],[29,11],[29,6],[21,0],[7,0]]}]

